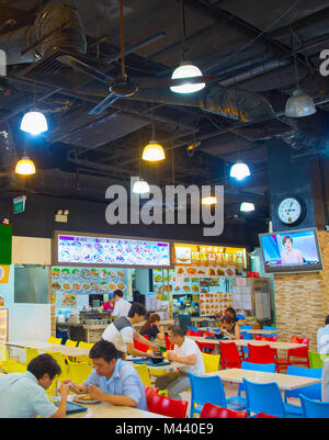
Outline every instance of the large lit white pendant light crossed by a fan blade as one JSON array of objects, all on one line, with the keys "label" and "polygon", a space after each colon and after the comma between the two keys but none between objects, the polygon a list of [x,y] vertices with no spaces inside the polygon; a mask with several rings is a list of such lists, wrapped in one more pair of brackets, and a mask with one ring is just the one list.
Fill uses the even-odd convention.
[{"label": "large lit white pendant light crossed by a fan blade", "polygon": [[[194,66],[192,63],[186,60],[186,26],[185,26],[185,11],[184,11],[184,0],[181,0],[181,14],[182,14],[182,59],[180,66],[173,71],[171,79],[184,79],[184,78],[195,78],[202,77],[202,71],[198,67]],[[205,82],[201,83],[184,83],[182,86],[171,86],[170,90],[175,93],[194,93],[202,90],[205,87]]]}]

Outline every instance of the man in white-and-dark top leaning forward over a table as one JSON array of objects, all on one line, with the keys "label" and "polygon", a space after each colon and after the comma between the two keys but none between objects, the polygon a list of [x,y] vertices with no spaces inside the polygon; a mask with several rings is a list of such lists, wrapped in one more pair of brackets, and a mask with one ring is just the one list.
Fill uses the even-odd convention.
[{"label": "man in white-and-dark top leaning forward over a table", "polygon": [[158,346],[144,338],[137,331],[135,331],[133,324],[139,324],[144,320],[146,309],[143,304],[133,303],[129,309],[128,316],[121,316],[111,323],[104,330],[102,339],[113,342],[120,356],[125,358],[126,352],[134,356],[148,356],[152,357],[152,353],[145,353],[144,351],[137,350],[134,347],[134,338],[150,347],[154,350],[158,350]]}]

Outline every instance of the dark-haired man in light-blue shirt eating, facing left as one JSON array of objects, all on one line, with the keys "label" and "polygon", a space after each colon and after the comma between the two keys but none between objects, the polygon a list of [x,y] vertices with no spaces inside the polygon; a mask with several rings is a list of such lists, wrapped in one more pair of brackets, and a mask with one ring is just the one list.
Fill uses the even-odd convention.
[{"label": "dark-haired man in light-blue shirt eating, facing left", "polygon": [[95,400],[147,410],[139,375],[133,365],[116,358],[114,343],[101,339],[92,347],[89,357],[94,369],[83,384],[71,385],[72,392],[88,392]]}]

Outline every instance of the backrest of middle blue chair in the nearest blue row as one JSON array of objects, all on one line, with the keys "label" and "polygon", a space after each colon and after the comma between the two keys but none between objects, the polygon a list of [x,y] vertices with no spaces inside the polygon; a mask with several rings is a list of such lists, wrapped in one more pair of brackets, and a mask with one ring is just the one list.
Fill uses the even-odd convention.
[{"label": "backrest of middle blue chair in the nearest blue row", "polygon": [[243,377],[246,388],[246,409],[248,413],[265,413],[285,417],[284,405],[276,382],[254,383]]}]

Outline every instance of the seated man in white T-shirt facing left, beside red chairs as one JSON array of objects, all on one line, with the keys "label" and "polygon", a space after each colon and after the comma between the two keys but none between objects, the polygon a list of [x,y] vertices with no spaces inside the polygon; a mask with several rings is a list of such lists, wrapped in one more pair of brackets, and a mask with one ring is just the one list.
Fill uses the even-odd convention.
[{"label": "seated man in white T-shirt facing left, beside red chairs", "polygon": [[168,390],[168,397],[181,399],[180,393],[190,388],[189,372],[204,373],[204,362],[200,348],[194,340],[186,338],[180,326],[171,326],[168,332],[173,350],[167,351],[167,359],[181,364],[179,371],[173,371],[156,380],[156,387]]}]

